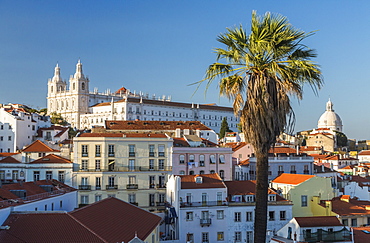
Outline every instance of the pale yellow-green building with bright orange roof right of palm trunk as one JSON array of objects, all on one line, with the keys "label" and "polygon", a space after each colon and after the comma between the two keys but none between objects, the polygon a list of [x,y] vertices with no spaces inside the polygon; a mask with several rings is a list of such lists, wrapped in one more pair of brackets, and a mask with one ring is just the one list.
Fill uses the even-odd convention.
[{"label": "pale yellow-green building with bright orange roof right of palm trunk", "polygon": [[313,210],[313,198],[327,200],[335,196],[331,178],[315,175],[283,173],[271,182],[271,187],[293,202],[293,217],[317,216]]}]

